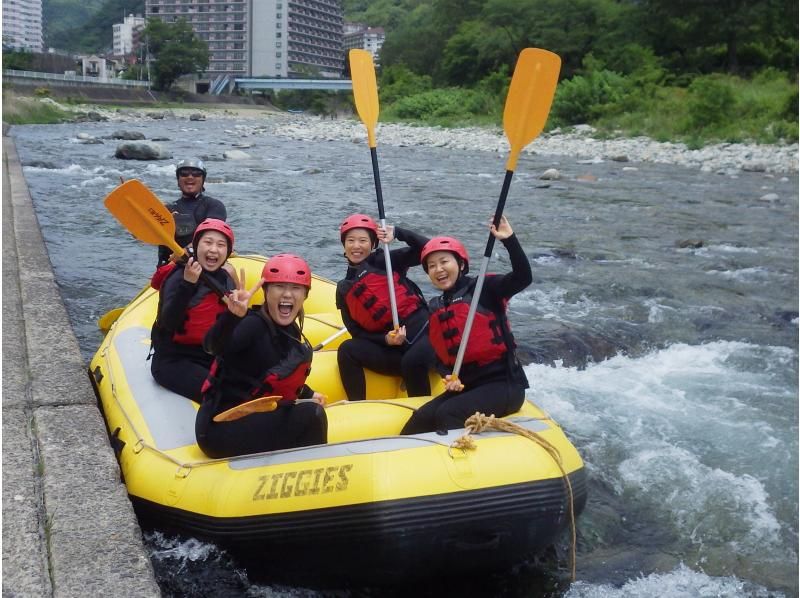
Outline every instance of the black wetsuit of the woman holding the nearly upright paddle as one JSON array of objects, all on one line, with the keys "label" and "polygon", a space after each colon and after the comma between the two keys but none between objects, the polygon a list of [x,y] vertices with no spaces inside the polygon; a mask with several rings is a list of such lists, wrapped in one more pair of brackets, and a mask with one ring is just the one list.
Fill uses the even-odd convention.
[{"label": "black wetsuit of the woman holding the nearly upright paddle", "polygon": [[[407,274],[409,268],[419,266],[419,254],[428,239],[399,227],[395,227],[395,236],[409,246],[389,253],[392,271],[400,275],[401,284],[409,285],[409,288],[422,297],[422,292],[407,278]],[[385,276],[386,258],[383,248],[372,252],[365,262],[383,271]],[[416,311],[406,318],[400,318],[400,325],[406,327],[406,342],[402,345],[387,345],[386,333],[391,330],[391,324],[386,330],[369,332],[353,320],[345,302],[345,296],[361,268],[361,264],[348,267],[345,278],[336,285],[336,307],[341,310],[342,321],[352,336],[339,346],[337,352],[339,375],[347,398],[351,401],[366,398],[364,368],[379,374],[401,376],[410,397],[429,395],[431,387],[428,373],[436,363],[436,356],[428,341],[428,309],[424,299]]]}]

